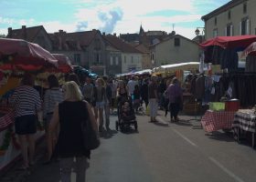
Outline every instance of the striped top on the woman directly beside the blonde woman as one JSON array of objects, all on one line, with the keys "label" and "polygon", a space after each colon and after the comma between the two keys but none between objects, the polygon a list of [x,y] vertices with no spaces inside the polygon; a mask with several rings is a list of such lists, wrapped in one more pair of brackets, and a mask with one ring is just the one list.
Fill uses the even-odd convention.
[{"label": "striped top on the woman directly beside the blonde woman", "polygon": [[64,96],[59,87],[48,89],[44,96],[43,116],[52,114],[54,107],[64,100]]}]

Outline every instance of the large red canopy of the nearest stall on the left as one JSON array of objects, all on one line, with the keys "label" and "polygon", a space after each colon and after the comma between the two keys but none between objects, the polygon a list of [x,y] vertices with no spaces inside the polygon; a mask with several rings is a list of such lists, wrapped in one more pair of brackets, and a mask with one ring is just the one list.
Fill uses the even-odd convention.
[{"label": "large red canopy of the nearest stall on the left", "polygon": [[0,69],[35,71],[57,66],[58,60],[37,44],[0,38]]}]

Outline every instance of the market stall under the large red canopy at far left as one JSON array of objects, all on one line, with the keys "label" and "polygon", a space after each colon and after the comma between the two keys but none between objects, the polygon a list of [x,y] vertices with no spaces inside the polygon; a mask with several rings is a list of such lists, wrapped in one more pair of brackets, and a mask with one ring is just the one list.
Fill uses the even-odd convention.
[{"label": "market stall under the large red canopy at far left", "polygon": [[[0,171],[21,154],[14,132],[14,111],[8,102],[14,88],[24,73],[37,74],[56,67],[58,60],[39,45],[0,38]],[[36,139],[43,135],[38,129]]]}]

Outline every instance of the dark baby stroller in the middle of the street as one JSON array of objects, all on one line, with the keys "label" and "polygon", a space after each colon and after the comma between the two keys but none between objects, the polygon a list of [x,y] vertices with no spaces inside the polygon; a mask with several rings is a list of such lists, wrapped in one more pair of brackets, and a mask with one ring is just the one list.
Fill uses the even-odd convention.
[{"label": "dark baby stroller in the middle of the street", "polygon": [[119,127],[123,130],[124,127],[131,125],[134,126],[135,130],[138,130],[131,96],[121,96],[118,98],[117,116],[118,120],[115,122],[115,128],[117,131]]}]

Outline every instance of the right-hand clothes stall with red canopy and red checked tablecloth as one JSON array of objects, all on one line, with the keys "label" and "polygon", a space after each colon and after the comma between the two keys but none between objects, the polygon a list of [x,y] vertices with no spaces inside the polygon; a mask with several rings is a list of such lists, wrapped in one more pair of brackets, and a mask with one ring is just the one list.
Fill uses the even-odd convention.
[{"label": "right-hand clothes stall with red canopy and red checked tablecloth", "polygon": [[[204,62],[212,65],[219,65],[225,70],[222,73],[213,74],[212,76],[204,76],[206,84],[204,92],[200,94],[199,99],[202,103],[211,102],[218,103],[222,98],[230,101],[232,98],[238,98],[235,103],[235,109],[223,109],[222,111],[208,110],[202,116],[201,123],[204,129],[215,131],[219,129],[231,129],[233,122],[236,121],[235,116],[240,107],[251,107],[256,104],[254,88],[256,84],[256,74],[245,73],[239,67],[239,52],[246,49],[256,40],[255,35],[240,36],[218,36],[212,38],[202,44],[204,51]],[[206,81],[206,80],[211,81]],[[197,86],[195,86],[197,89]],[[227,105],[227,102],[222,102]],[[228,103],[229,104],[229,103]]]}]

